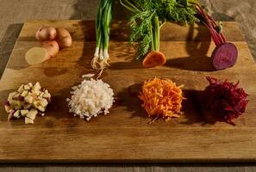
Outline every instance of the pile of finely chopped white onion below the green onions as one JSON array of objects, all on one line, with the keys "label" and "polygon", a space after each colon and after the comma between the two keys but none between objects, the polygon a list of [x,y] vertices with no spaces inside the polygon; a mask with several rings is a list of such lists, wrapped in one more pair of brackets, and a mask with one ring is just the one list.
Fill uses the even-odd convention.
[{"label": "pile of finely chopped white onion below the green onions", "polygon": [[91,120],[97,114],[109,114],[109,108],[114,102],[114,92],[108,83],[102,80],[86,80],[78,86],[72,87],[72,98],[69,101],[69,112],[74,116]]}]

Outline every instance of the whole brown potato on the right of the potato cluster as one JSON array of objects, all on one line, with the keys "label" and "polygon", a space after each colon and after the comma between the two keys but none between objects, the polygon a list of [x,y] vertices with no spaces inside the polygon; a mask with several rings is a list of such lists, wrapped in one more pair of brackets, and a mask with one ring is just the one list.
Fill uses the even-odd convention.
[{"label": "whole brown potato on the right of the potato cluster", "polygon": [[59,44],[60,48],[66,48],[72,46],[72,36],[66,30],[66,28],[56,28],[57,38],[56,41]]}]

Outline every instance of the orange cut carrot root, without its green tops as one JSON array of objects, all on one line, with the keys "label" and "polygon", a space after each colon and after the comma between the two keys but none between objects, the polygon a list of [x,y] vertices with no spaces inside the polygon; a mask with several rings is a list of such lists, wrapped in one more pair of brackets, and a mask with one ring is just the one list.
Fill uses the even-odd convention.
[{"label": "orange cut carrot root, without its green tops", "polygon": [[146,68],[153,68],[165,64],[166,58],[165,54],[162,52],[149,52],[144,58],[142,64]]}]

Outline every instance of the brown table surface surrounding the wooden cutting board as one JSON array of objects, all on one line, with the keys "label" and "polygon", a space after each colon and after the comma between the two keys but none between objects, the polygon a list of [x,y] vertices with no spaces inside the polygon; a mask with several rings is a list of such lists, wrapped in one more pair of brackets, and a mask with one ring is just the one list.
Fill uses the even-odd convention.
[{"label": "brown table surface surrounding the wooden cutting board", "polygon": [[[96,0],[0,0],[0,75],[27,20],[93,20]],[[256,4],[254,0],[204,0],[216,19],[240,22],[240,28],[256,57]],[[117,5],[116,5],[117,6]],[[115,8],[116,19],[127,16]],[[2,164],[0,171],[255,171],[253,164]]]}]

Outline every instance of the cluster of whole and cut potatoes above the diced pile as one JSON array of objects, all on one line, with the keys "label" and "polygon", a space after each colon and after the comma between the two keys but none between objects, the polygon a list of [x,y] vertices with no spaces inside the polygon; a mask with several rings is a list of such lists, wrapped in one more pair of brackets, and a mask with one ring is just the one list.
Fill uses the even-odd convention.
[{"label": "cluster of whole and cut potatoes above the diced pile", "polygon": [[66,28],[41,27],[35,33],[35,39],[41,41],[41,46],[30,48],[26,52],[28,64],[40,64],[55,57],[59,49],[72,46],[72,36]]}]

